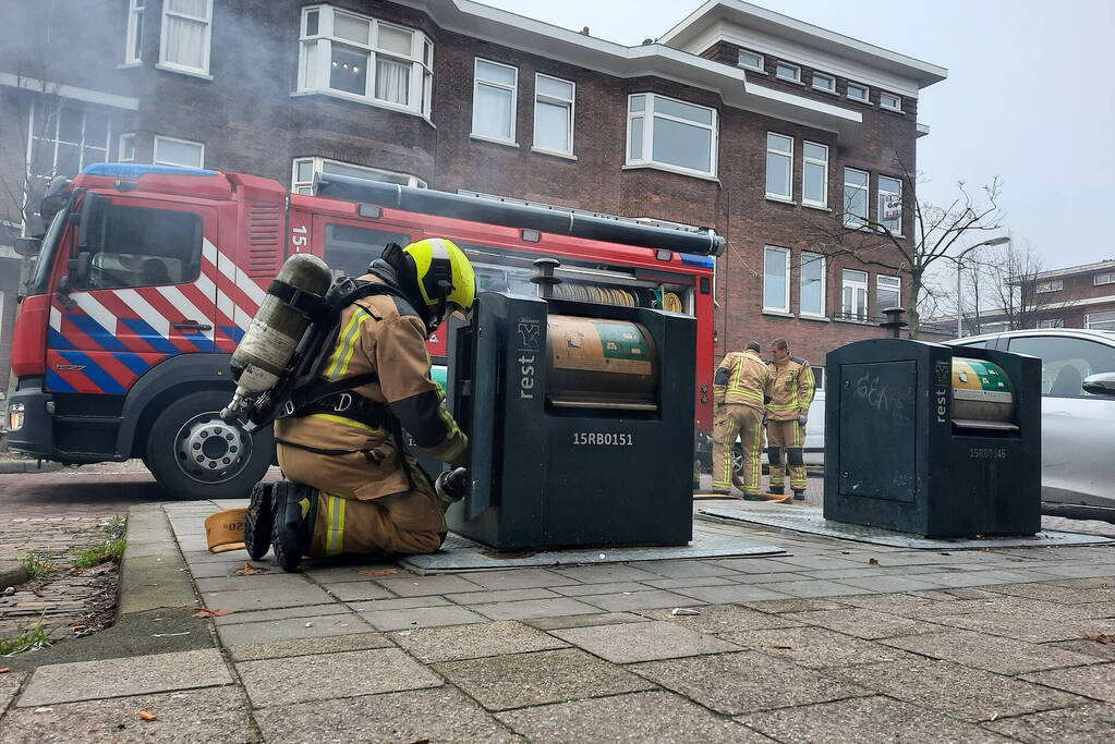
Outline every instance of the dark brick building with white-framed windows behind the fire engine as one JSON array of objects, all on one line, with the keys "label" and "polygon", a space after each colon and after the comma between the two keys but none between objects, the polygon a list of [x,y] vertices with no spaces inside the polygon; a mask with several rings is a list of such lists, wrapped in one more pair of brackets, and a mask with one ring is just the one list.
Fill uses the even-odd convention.
[{"label": "dark brick building with white-framed windows behind the fire engine", "polygon": [[20,125],[0,129],[0,178],[20,157],[43,177],[135,160],[294,190],[340,170],[710,226],[730,246],[717,353],[785,336],[818,363],[880,335],[908,282],[823,256],[803,226],[912,234],[895,158],[914,170],[918,95],[946,77],[737,0],[636,47],[469,0],[22,0],[0,25],[0,115]]}]

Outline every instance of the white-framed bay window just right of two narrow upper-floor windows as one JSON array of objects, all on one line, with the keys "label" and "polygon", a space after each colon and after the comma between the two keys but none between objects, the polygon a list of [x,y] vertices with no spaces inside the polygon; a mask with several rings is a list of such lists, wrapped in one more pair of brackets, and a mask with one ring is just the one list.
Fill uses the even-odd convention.
[{"label": "white-framed bay window just right of two narrow upper-floor windows", "polygon": [[716,176],[716,109],[658,96],[628,98],[629,166]]}]

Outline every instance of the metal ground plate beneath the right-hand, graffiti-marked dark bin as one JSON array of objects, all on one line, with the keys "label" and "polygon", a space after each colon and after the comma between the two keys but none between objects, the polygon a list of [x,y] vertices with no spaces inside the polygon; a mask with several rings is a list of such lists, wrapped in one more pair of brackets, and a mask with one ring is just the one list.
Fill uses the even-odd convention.
[{"label": "metal ground plate beneath the right-hand, graffiti-marked dark bin", "polygon": [[698,508],[697,519],[729,525],[763,525],[788,529],[795,532],[833,537],[840,540],[854,540],[872,545],[885,545],[895,548],[914,548],[923,550],[940,550],[952,548],[1039,548],[1065,545],[1098,545],[1115,542],[1111,538],[1098,535],[1082,535],[1078,532],[1058,532],[1043,530],[1034,536],[1022,537],[986,537],[986,538],[941,538],[930,539],[883,529],[866,527],[825,519],[821,507],[783,506],[783,505],[726,505]]}]

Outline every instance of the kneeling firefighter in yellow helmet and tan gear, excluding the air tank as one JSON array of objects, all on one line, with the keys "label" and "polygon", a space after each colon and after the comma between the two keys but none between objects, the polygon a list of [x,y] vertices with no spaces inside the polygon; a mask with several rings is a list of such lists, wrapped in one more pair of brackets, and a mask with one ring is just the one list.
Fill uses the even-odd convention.
[{"label": "kneeling firefighter in yellow helmet and tan gear, excluding the air tank", "polygon": [[466,463],[468,441],[430,379],[426,340],[444,316],[472,306],[475,272],[454,243],[428,238],[388,245],[360,281],[395,292],[343,310],[319,370],[323,381],[371,381],[275,421],[279,466],[290,482],[270,496],[259,484],[249,506],[249,554],[260,556],[251,542],[271,527],[285,570],[303,556],[433,552],[446,536],[445,509],[463,495],[454,487],[462,489],[465,471],[439,478],[435,488],[407,454],[403,430],[437,459]]}]

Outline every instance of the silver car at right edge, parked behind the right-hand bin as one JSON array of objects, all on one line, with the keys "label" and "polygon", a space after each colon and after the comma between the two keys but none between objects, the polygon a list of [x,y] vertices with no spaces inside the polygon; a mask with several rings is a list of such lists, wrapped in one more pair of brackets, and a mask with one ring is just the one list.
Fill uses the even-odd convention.
[{"label": "silver car at right edge, parked behind the right-hand bin", "polygon": [[1115,521],[1115,332],[1009,331],[947,343],[1041,360],[1041,500],[1046,511]]}]

